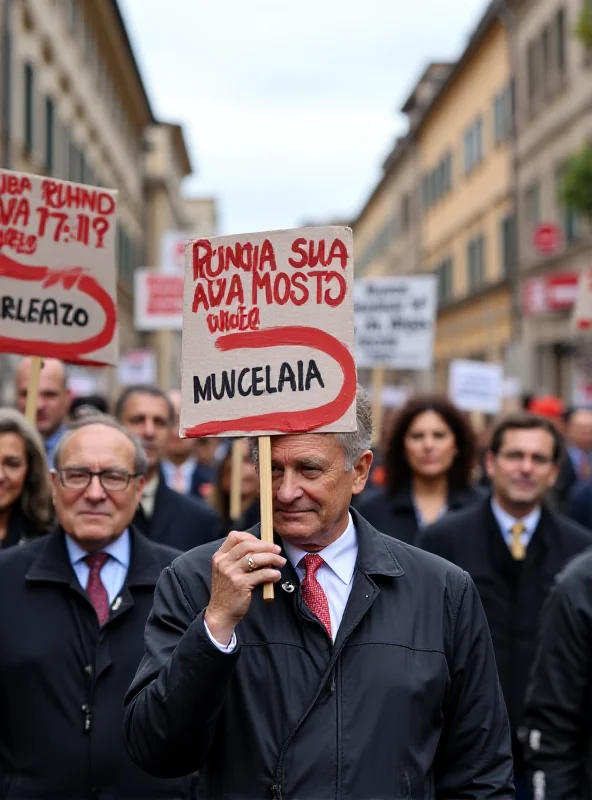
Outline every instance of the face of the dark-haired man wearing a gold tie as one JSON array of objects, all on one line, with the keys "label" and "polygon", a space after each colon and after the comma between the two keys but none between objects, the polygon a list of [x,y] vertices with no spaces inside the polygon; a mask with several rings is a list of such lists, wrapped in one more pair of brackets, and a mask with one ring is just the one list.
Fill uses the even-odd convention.
[{"label": "face of the dark-haired man wearing a gold tie", "polygon": [[528,513],[541,503],[559,471],[553,446],[553,437],[543,428],[506,431],[499,453],[487,454],[487,473],[502,507]]}]

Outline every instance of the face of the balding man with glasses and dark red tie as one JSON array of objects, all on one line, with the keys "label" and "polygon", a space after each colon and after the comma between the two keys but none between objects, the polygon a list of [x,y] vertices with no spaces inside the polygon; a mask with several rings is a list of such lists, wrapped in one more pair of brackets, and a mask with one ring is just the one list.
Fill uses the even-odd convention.
[{"label": "face of the balding man with glasses and dark red tie", "polygon": [[84,489],[64,482],[80,481],[83,470],[132,475],[135,448],[121,431],[88,425],[65,443],[59,469],[52,473],[53,501],[58,519],[74,541],[89,553],[117,539],[130,524],[142,496],[143,478],[131,478],[127,488],[106,490],[95,475]]}]

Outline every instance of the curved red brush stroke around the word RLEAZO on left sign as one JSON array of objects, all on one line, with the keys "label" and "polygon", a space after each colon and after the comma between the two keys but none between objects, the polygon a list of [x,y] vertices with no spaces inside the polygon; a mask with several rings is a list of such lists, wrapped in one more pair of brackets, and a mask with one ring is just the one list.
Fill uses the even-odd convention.
[{"label": "curved red brush stroke around the word RLEAZO on left sign", "polygon": [[48,288],[60,283],[65,289],[74,286],[82,294],[92,298],[105,313],[103,329],[95,336],[83,339],[81,342],[48,342],[46,339],[17,339],[10,336],[0,336],[0,352],[17,353],[19,355],[45,356],[46,358],[60,358],[62,361],[75,361],[84,364],[100,365],[104,362],[83,358],[85,353],[100,350],[113,339],[117,325],[117,310],[110,295],[103,289],[95,278],[86,275],[82,267],[71,269],[51,269],[50,267],[30,267],[13,261],[4,253],[0,253],[0,277],[14,278],[20,281],[33,281],[40,283],[40,288]]}]

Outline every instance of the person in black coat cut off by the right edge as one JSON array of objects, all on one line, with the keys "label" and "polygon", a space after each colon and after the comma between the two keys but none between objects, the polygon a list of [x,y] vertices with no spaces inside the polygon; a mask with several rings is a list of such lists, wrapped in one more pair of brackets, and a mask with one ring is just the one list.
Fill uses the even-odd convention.
[{"label": "person in black coat cut off by the right edge", "polygon": [[592,550],[557,576],[526,693],[528,764],[539,796],[592,797]]}]

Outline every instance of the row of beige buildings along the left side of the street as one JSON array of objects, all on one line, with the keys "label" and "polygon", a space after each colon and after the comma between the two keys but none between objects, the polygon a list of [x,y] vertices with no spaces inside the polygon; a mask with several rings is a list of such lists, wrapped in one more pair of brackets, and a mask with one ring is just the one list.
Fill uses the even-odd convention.
[{"label": "row of beige buildings along the left side of the street", "polygon": [[[120,349],[146,346],[134,269],[157,266],[160,232],[187,224],[180,185],[191,167],[181,128],[154,119],[117,0],[0,0],[0,65],[0,165],[118,190]],[[0,359],[7,402],[16,359]],[[112,368],[73,373],[117,391]]]}]

